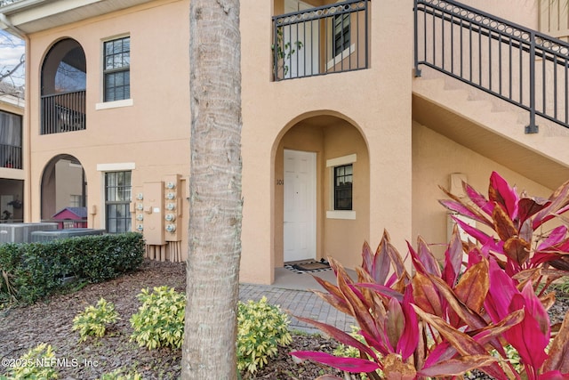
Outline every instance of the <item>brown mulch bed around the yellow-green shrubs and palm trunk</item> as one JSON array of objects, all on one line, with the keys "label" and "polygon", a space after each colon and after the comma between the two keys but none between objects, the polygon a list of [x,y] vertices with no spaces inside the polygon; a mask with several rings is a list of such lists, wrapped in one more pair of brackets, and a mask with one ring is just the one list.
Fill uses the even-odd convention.
[{"label": "brown mulch bed around the yellow-green shrubs and palm trunk", "polygon": [[[101,284],[90,284],[75,293],[54,295],[26,307],[0,310],[0,358],[15,360],[37,344],[51,344],[60,360],[57,370],[60,379],[95,379],[116,368],[136,369],[144,379],[173,379],[180,377],[180,350],[148,351],[130,342],[132,327],[129,319],[138,311],[136,295],[144,287],[186,288],[184,263],[146,261],[140,271],[126,274]],[[115,303],[122,319],[100,339],[78,343],[79,335],[71,330],[73,318],[89,304],[104,297]],[[257,378],[314,379],[333,373],[316,363],[293,361],[293,350],[331,351],[335,341],[322,336],[295,334],[293,344],[281,348]],[[0,375],[7,368],[0,366]]]}]

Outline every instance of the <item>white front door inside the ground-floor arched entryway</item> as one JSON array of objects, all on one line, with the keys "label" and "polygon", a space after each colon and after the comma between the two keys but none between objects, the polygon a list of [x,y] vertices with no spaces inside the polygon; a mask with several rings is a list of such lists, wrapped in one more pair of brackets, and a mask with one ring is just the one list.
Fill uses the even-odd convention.
[{"label": "white front door inside the ground-floor arched entryway", "polygon": [[284,150],[284,262],[317,254],[317,154]]}]

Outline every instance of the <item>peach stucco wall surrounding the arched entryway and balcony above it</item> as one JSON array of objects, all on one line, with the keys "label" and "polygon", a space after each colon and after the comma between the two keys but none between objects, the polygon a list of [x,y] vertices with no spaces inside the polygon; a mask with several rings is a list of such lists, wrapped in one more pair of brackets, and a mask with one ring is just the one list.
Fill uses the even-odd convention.
[{"label": "peach stucco wall surrounding the arched entryway and balcony above it", "polygon": [[264,283],[272,281],[277,263],[278,148],[284,134],[301,119],[325,114],[347,120],[357,125],[368,147],[373,189],[369,224],[347,251],[359,252],[363,236],[376,246],[384,228],[402,245],[411,233],[412,49],[401,46],[413,45],[412,2],[371,3],[370,69],[281,82],[271,81],[271,8],[270,2],[241,3],[246,15],[241,25],[242,52],[246,52],[242,56],[241,277]]}]

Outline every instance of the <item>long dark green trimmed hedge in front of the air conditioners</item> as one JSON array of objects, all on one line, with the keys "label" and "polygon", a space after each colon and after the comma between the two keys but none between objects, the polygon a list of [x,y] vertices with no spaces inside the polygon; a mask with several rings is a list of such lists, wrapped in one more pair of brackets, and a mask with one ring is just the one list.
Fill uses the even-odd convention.
[{"label": "long dark green trimmed hedge in front of the air conditioners", "polygon": [[67,276],[75,275],[89,282],[114,279],[140,266],[144,244],[142,235],[137,232],[47,243],[2,244],[0,278],[4,277],[4,287],[0,286],[0,292],[6,291],[6,275],[16,298],[23,303],[51,295],[63,286],[62,279]]}]

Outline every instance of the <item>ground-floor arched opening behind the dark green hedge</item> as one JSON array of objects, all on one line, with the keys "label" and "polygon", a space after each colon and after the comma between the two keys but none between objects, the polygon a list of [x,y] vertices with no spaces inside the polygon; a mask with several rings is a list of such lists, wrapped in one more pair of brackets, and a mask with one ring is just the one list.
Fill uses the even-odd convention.
[{"label": "ground-floor arched opening behind the dark green hedge", "polygon": [[44,168],[41,191],[42,222],[67,220],[65,226],[86,227],[87,182],[78,159],[69,155],[52,158]]}]

